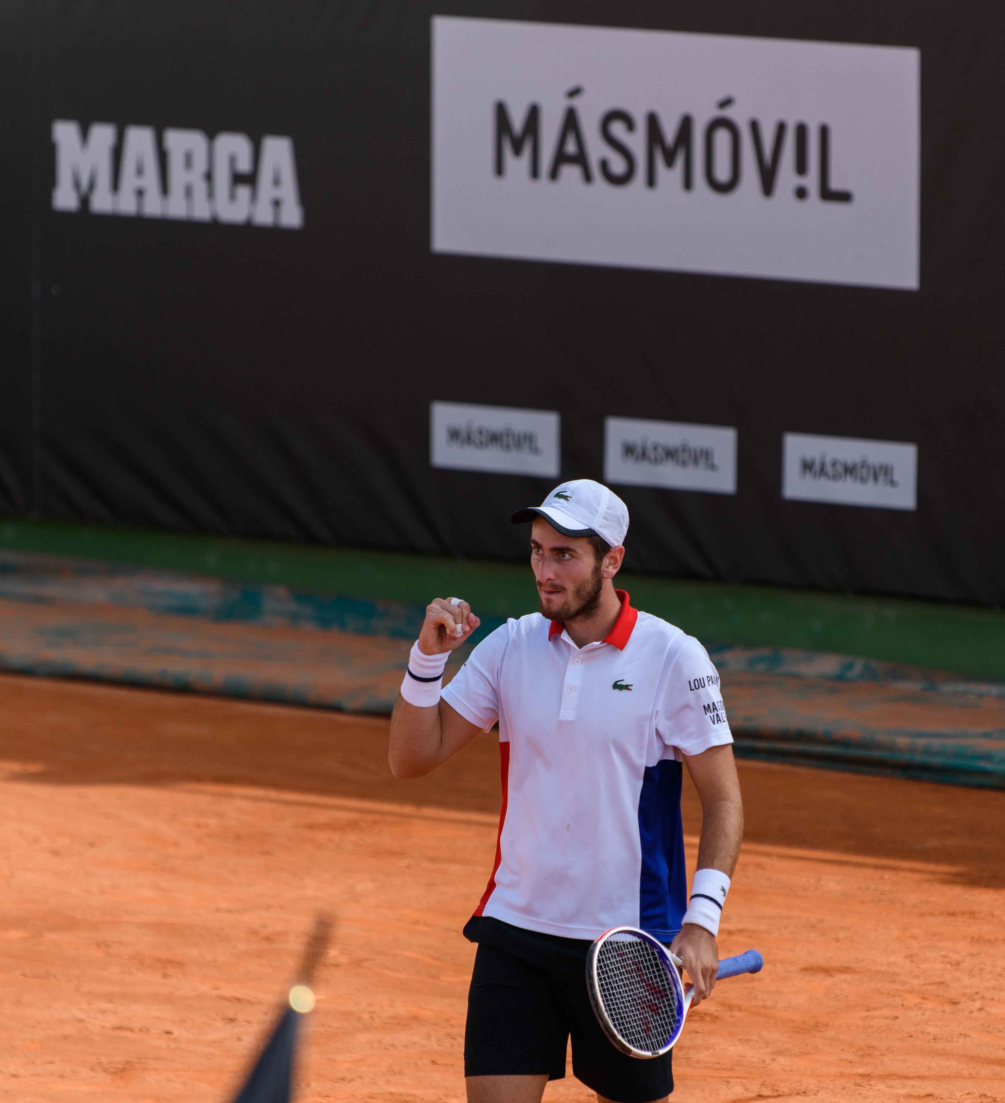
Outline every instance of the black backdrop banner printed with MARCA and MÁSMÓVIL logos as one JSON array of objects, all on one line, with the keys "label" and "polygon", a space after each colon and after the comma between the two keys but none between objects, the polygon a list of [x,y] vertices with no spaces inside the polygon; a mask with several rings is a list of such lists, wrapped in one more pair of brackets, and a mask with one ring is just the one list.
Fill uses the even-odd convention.
[{"label": "black backdrop banner printed with MARCA and M\u00c1SM\u00d3VIL logos", "polygon": [[1005,600],[990,4],[25,11],[3,510]]}]

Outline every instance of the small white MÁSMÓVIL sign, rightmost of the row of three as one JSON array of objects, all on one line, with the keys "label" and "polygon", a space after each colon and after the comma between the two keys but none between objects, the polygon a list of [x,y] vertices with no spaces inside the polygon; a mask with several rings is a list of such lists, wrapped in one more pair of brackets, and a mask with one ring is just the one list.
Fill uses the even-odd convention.
[{"label": "small white M\u00c1SM\u00d3VIL sign, rightmost of the row of three", "polygon": [[787,432],[782,471],[782,497],[917,508],[917,445]]}]

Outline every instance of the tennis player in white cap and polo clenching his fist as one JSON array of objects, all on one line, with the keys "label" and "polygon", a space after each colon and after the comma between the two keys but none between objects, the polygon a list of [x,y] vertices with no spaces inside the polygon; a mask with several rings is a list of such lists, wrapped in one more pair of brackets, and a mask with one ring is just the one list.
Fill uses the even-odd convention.
[{"label": "tennis player in white cap and polo clenching his fist", "polygon": [[[540,1103],[573,1072],[601,1103],[673,1090],[672,1050],[620,1053],[590,1006],[590,943],[640,927],[669,943],[694,985],[715,984],[715,938],[743,834],[718,675],[679,628],[634,609],[614,577],[628,511],[588,479],[562,483],[531,524],[540,612],[482,641],[442,688],[447,654],[479,624],[466,601],[426,609],[391,718],[397,778],[420,778],[498,721],[502,806],[491,876],[464,934],[478,943],[464,1069],[471,1103]],[[680,794],[702,804],[687,890]]]}]

